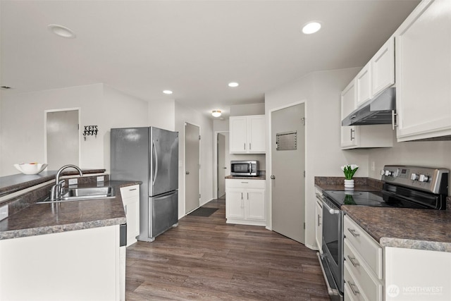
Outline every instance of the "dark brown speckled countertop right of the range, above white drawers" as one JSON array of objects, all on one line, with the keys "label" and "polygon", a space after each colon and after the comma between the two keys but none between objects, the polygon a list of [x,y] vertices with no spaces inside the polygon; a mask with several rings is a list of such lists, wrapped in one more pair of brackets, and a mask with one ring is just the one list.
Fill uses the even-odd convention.
[{"label": "dark brown speckled countertop right of the range, above white drawers", "polygon": [[383,247],[451,252],[451,211],[343,205]]}]

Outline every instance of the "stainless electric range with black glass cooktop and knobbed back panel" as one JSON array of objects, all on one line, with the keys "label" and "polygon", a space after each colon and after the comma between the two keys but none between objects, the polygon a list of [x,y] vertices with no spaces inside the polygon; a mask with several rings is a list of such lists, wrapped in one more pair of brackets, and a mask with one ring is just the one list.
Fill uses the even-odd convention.
[{"label": "stainless electric range with black glass cooktop and knobbed back panel", "polygon": [[342,300],[342,205],[446,209],[448,175],[445,168],[386,165],[381,171],[381,191],[323,190],[317,195],[323,207],[322,251],[319,256],[331,300]]}]

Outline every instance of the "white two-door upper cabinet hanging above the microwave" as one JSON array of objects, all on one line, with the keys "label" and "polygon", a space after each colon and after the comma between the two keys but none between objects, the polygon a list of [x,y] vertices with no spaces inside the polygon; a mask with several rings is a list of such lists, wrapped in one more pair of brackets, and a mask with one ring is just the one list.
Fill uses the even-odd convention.
[{"label": "white two-door upper cabinet hanging above the microwave", "polygon": [[230,117],[230,154],[265,153],[265,116]]}]

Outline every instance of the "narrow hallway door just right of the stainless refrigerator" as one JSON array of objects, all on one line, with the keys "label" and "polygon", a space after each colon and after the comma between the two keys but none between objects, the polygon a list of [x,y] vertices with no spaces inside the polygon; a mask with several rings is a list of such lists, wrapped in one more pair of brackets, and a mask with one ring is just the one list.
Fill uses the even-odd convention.
[{"label": "narrow hallway door just right of the stainless refrigerator", "polygon": [[199,137],[199,127],[190,123],[185,123],[185,213],[197,209],[200,205]]}]

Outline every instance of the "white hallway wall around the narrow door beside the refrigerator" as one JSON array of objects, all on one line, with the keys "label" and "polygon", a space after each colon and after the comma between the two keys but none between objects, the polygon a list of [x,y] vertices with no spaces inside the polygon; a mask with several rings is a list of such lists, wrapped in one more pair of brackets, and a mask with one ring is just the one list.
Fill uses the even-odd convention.
[{"label": "white hallway wall around the narrow door beside the refrigerator", "polygon": [[175,101],[175,130],[179,132],[178,216],[185,216],[185,122],[200,127],[200,205],[213,199],[213,121]]}]

